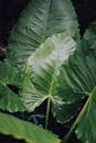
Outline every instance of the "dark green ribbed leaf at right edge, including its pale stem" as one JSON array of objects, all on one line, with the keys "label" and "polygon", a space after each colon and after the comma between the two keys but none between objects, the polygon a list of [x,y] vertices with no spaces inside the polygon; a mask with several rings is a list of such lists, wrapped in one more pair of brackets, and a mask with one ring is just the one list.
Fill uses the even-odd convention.
[{"label": "dark green ribbed leaf at right edge, including its pale stem", "polygon": [[[92,42],[93,41],[93,42]],[[85,32],[81,46],[61,68],[61,77],[74,94],[86,97],[74,124],[65,136],[66,141],[73,130],[83,143],[96,142],[96,23]],[[65,76],[66,75],[66,76]],[[64,86],[63,86],[64,89]],[[65,88],[66,89],[66,88]],[[64,91],[64,90],[63,90]],[[68,92],[68,90],[67,90]],[[66,95],[67,96],[67,95]]]}]

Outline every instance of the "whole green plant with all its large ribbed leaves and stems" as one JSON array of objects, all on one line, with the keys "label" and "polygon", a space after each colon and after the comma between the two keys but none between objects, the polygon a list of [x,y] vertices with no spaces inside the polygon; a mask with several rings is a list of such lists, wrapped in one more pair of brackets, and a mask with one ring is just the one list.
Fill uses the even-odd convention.
[{"label": "whole green plant with all its large ribbed leaves and stems", "polygon": [[[70,0],[30,1],[11,32],[7,58],[0,63],[0,109],[11,113],[33,112],[46,100],[45,130],[0,113],[1,133],[28,143],[60,143],[47,131],[52,111],[61,123],[75,118],[63,143],[74,131],[82,143],[96,142],[95,25],[79,38]],[[87,99],[81,105],[83,98]]]}]

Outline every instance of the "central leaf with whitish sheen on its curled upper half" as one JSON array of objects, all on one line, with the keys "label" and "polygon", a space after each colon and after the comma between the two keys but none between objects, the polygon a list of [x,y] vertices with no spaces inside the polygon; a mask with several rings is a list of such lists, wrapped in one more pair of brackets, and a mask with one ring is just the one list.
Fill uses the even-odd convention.
[{"label": "central leaf with whitish sheen on its curled upper half", "polygon": [[[76,113],[74,107],[66,105],[64,92],[58,89],[60,68],[75,51],[76,43],[65,34],[49,37],[29,58],[28,75],[24,75],[20,96],[28,111],[33,111],[47,99],[47,113],[52,105],[53,116],[61,122],[66,122]],[[30,77],[30,78],[29,78]],[[77,98],[78,99],[78,98]],[[66,111],[70,111],[66,114]],[[63,116],[60,116],[62,114]],[[65,114],[65,116],[64,116]]]}]

